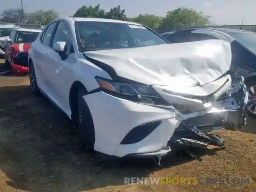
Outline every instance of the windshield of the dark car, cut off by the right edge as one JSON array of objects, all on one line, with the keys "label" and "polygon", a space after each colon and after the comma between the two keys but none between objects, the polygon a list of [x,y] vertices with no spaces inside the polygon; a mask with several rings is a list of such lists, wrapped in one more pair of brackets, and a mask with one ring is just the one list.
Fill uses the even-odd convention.
[{"label": "windshield of the dark car, cut off by the right edge", "polygon": [[248,48],[251,52],[256,54],[256,33],[254,32],[229,32],[230,36],[232,36],[235,40],[240,42],[246,48]]}]

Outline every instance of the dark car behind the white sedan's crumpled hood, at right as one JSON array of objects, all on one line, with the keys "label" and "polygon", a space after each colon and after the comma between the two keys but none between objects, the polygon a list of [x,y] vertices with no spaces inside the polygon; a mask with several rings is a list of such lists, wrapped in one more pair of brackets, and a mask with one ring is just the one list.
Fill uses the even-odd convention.
[{"label": "dark car behind the white sedan's crumpled hood, at right", "polygon": [[230,42],[231,69],[244,76],[249,92],[248,114],[256,118],[256,33],[230,28],[189,28],[161,34],[170,43],[221,39]]}]

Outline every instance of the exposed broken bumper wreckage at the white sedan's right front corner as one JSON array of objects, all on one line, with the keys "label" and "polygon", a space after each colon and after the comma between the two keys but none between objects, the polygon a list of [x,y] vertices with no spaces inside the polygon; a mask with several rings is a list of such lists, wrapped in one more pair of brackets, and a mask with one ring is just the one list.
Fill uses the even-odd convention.
[{"label": "exposed broken bumper wreckage at the white sedan's right front corner", "polygon": [[[166,151],[184,149],[192,158],[196,158],[196,155],[188,148],[208,148],[209,145],[224,146],[223,138],[210,133],[212,130],[240,130],[246,123],[245,109],[248,92],[244,78],[235,73],[229,74],[229,72],[225,75],[230,76],[230,87],[219,96],[216,96],[216,93],[220,91],[217,90],[217,92],[201,98],[201,104],[205,110],[192,111],[190,106],[182,107],[181,104],[172,104],[180,124],[177,125],[174,134],[170,137]],[[193,102],[196,101],[193,100]],[[204,123],[200,122],[202,120]],[[162,156],[163,154],[158,155],[159,164]]]}]

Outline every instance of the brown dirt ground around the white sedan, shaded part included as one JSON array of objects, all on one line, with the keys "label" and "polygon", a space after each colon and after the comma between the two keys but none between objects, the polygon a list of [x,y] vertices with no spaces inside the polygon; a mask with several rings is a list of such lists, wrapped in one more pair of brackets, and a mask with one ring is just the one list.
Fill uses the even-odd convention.
[{"label": "brown dirt ground around the white sedan, shaded part included", "polygon": [[[28,76],[0,76],[0,191],[252,192],[256,189],[256,127],[221,130],[226,148],[184,152],[153,160],[87,154],[76,127],[44,97],[29,90]],[[124,177],[250,177],[250,185],[124,185]]]}]

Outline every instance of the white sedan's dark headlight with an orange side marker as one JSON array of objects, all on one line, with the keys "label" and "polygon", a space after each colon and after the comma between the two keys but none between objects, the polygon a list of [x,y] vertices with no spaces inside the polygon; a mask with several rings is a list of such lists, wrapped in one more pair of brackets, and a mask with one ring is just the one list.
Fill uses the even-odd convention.
[{"label": "white sedan's dark headlight with an orange side marker", "polygon": [[132,100],[135,102],[146,102],[151,104],[168,104],[163,100],[158,92],[152,87],[145,84],[130,84],[124,82],[116,82],[101,77],[95,77],[100,88],[113,96]]}]

